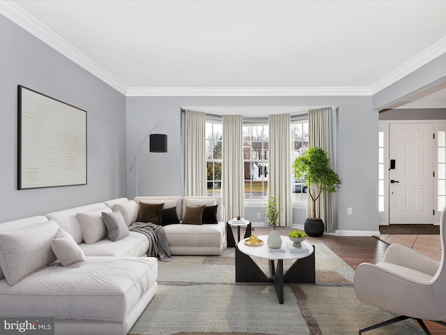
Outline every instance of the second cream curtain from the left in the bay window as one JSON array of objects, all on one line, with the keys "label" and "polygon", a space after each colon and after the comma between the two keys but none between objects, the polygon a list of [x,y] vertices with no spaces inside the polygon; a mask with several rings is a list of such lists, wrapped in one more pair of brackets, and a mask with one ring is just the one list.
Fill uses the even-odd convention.
[{"label": "second cream curtain from the left in the bay window", "polygon": [[243,117],[222,116],[222,198],[226,220],[245,217],[243,169]]}]

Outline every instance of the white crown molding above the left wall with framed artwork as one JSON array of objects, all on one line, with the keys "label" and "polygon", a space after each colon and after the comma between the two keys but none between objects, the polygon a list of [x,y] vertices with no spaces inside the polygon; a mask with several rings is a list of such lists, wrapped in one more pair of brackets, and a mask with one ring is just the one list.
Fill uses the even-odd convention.
[{"label": "white crown molding above the left wall with framed artwork", "polygon": [[116,80],[113,75],[79,52],[79,50],[75,49],[75,47],[70,45],[70,43],[67,43],[66,40],[63,40],[63,38],[55,34],[54,31],[48,29],[43,24],[38,22],[38,20],[26,13],[15,3],[11,1],[0,1],[0,13],[18,26],[28,31],[30,34],[33,34],[38,39],[42,40],[54,50],[66,56],[71,61],[74,61],[79,66],[82,66],[82,68],[95,75],[95,77],[98,77],[106,84],[109,84],[109,86],[116,89],[116,91],[119,91],[122,94],[125,94],[127,91],[127,87]]}]

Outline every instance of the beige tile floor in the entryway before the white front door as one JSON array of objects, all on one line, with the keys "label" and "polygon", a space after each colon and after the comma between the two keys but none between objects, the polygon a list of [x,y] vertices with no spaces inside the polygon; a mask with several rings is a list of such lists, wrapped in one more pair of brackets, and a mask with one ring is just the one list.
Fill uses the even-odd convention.
[{"label": "beige tile floor in the entryway before the white front door", "polygon": [[434,260],[441,259],[440,235],[380,235],[380,239],[389,244],[399,243],[429,256]]}]

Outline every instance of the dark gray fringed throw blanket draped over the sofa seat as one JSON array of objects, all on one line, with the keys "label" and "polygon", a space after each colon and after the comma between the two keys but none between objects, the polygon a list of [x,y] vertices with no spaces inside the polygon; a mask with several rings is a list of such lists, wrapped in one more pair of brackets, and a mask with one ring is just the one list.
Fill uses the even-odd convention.
[{"label": "dark gray fringed throw blanket draped over the sofa seat", "polygon": [[156,257],[163,262],[176,259],[176,257],[172,257],[170,254],[169,241],[167,241],[166,232],[161,225],[155,225],[155,223],[151,222],[135,222],[130,225],[129,230],[146,235],[148,239],[148,257]]}]

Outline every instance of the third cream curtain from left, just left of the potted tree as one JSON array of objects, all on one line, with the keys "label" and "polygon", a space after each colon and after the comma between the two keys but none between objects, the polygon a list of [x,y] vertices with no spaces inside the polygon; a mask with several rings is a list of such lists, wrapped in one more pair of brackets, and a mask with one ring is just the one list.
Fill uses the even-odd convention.
[{"label": "third cream curtain from left, just left of the potted tree", "polygon": [[279,225],[293,226],[293,202],[291,199],[291,143],[290,114],[270,115],[268,126],[270,131],[268,165],[268,198],[276,197],[279,209]]}]

